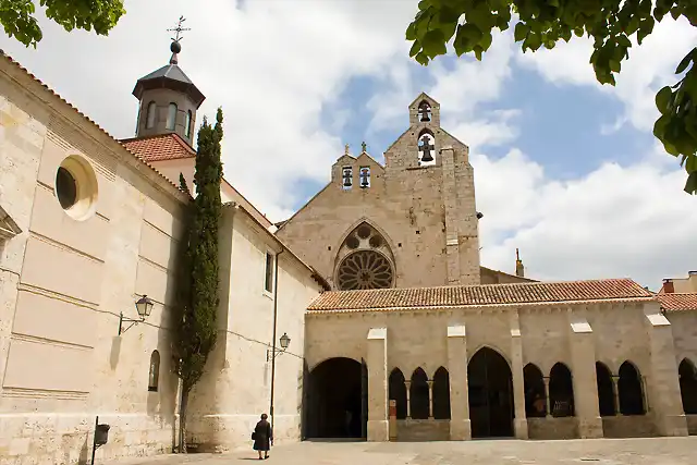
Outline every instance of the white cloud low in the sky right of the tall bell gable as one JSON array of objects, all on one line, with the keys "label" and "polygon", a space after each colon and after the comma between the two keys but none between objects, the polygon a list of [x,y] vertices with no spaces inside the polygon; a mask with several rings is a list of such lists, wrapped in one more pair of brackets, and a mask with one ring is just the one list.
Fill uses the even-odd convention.
[{"label": "white cloud low in the sky right of the tall bell gable", "polygon": [[662,278],[686,274],[697,261],[697,197],[663,158],[656,146],[631,167],[558,182],[516,149],[473,156],[482,265],[512,272],[518,247],[527,276],[540,280],[631,277],[658,290]]}]

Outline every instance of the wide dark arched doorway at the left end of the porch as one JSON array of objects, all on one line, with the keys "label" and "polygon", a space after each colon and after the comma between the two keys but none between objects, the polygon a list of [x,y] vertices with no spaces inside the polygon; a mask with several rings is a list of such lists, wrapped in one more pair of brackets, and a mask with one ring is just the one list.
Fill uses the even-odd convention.
[{"label": "wide dark arched doorway at the left end of the porch", "polygon": [[365,438],[366,394],[365,364],[337,357],[317,365],[309,372],[307,438]]}]

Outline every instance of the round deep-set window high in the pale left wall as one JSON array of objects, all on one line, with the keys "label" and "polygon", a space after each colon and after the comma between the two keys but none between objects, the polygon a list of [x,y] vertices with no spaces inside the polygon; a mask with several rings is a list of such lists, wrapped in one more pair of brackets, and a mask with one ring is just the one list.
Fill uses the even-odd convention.
[{"label": "round deep-set window high in the pale left wall", "polygon": [[73,219],[83,221],[95,212],[97,176],[82,157],[70,156],[56,172],[56,197]]}]

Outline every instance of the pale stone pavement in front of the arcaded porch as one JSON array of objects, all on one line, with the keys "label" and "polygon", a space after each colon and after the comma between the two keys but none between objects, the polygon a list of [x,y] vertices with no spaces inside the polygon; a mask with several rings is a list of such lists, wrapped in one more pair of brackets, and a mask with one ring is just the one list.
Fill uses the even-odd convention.
[{"label": "pale stone pavement in front of the arcaded porch", "polygon": [[[256,452],[192,454],[105,465],[223,465],[257,461]],[[258,461],[257,461],[258,462]],[[695,465],[697,437],[570,441],[302,442],[280,445],[265,465]]]}]

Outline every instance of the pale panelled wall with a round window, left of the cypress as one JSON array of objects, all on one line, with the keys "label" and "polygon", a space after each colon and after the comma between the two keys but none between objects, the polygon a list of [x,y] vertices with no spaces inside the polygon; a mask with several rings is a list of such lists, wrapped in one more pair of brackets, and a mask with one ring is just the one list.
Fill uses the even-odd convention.
[{"label": "pale panelled wall with a round window, left of the cypress", "polygon": [[[0,204],[23,231],[1,246],[0,464],[86,463],[97,415],[111,425],[98,460],[171,451],[168,306],[184,196],[5,58],[0,88]],[[57,199],[66,158],[88,180],[80,218]],[[119,314],[135,318],[142,294],[152,314],[119,336]]]}]

